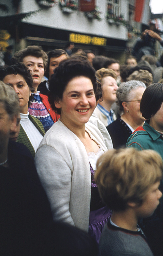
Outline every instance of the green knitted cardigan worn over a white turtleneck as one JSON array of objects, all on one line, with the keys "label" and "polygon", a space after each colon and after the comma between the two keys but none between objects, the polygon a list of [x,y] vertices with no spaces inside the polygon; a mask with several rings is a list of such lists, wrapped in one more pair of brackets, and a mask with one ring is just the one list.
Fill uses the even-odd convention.
[{"label": "green knitted cardigan worn over a white turtleneck", "polygon": [[[30,114],[29,114],[29,119],[36,126],[36,128],[41,133],[41,135],[44,136],[45,135],[45,130],[44,130],[44,127],[43,127],[42,123],[37,118],[31,116]],[[29,149],[32,156],[35,157],[36,153],[35,153],[34,147],[32,146],[32,143],[30,142],[26,132],[22,128],[22,125],[21,125],[21,128],[20,128],[20,133],[19,133],[17,142],[20,142],[20,143],[24,144]]]}]

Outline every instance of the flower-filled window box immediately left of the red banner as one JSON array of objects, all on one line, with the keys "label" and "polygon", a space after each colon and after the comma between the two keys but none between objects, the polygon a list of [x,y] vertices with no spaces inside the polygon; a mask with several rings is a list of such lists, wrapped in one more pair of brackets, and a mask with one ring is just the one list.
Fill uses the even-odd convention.
[{"label": "flower-filled window box immediately left of the red banner", "polygon": [[66,13],[78,10],[78,4],[75,0],[59,0],[59,7]]}]

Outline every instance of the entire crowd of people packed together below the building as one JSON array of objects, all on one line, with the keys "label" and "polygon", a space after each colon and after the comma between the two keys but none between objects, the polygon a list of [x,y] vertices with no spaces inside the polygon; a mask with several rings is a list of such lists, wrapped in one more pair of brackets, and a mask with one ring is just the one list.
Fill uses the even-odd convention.
[{"label": "entire crowd of people packed together below the building", "polygon": [[2,255],[163,255],[163,55],[137,47],[1,62]]}]

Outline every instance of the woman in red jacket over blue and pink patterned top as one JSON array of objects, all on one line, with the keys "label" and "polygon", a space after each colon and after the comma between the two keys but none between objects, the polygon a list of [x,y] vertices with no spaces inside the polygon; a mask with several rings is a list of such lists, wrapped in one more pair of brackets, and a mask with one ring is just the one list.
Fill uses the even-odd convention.
[{"label": "woman in red jacket over blue and pink patterned top", "polygon": [[33,93],[34,98],[31,101],[28,111],[31,116],[41,121],[45,131],[47,131],[60,117],[52,110],[47,95],[40,94],[40,92],[37,91],[38,85],[41,83],[46,70],[47,54],[39,46],[28,46],[16,52],[14,59],[16,62],[25,64],[32,73],[35,93]]}]

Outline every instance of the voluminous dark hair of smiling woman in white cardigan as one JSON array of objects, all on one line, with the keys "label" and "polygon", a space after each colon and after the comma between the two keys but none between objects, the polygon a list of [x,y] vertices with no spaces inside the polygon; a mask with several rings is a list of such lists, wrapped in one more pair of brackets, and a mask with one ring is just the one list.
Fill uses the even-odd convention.
[{"label": "voluminous dark hair of smiling woman in white cardigan", "polygon": [[49,81],[49,103],[52,109],[56,113],[60,114],[60,109],[55,107],[54,101],[62,99],[63,92],[66,88],[67,83],[74,77],[84,76],[88,77],[94,88],[96,101],[99,100],[99,85],[97,84],[97,79],[95,76],[95,69],[91,66],[88,61],[81,61],[79,59],[68,59],[61,62],[57,68],[54,69],[54,74]]}]

